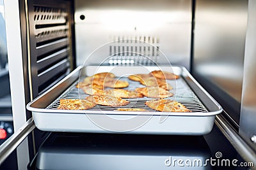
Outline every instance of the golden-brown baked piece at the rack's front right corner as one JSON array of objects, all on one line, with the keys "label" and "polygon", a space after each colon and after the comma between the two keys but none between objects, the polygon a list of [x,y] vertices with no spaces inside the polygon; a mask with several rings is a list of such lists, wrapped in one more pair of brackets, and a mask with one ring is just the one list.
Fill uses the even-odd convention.
[{"label": "golden-brown baked piece at the rack's front right corner", "polygon": [[191,112],[183,104],[180,104],[177,101],[172,101],[170,99],[154,99],[152,101],[147,101],[145,104],[148,107],[158,111]]}]

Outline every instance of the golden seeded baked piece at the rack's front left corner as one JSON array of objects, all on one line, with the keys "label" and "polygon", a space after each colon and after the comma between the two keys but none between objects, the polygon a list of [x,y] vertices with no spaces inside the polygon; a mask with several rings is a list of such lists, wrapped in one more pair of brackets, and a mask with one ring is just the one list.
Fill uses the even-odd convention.
[{"label": "golden seeded baked piece at the rack's front left corner", "polygon": [[88,110],[96,103],[85,99],[60,99],[58,110]]}]

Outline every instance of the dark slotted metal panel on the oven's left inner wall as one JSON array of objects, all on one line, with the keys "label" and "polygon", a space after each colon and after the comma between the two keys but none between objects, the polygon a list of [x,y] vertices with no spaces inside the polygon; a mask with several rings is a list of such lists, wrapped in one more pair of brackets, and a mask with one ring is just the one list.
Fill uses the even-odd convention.
[{"label": "dark slotted metal panel on the oven's left inner wall", "polygon": [[70,73],[71,7],[69,1],[28,1],[28,57],[33,97]]}]

